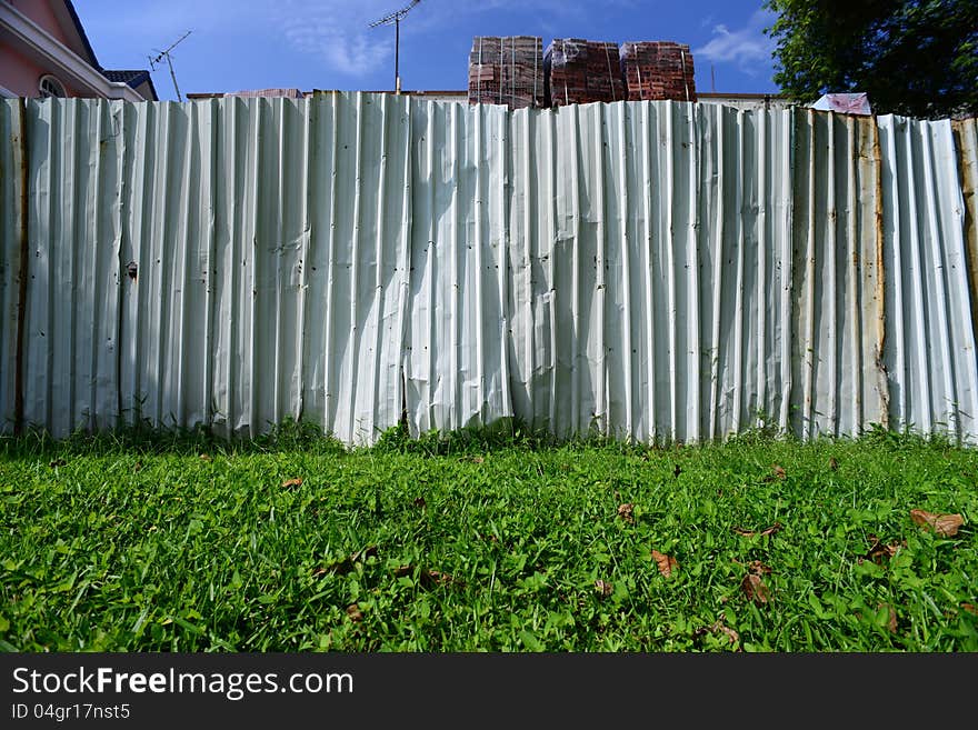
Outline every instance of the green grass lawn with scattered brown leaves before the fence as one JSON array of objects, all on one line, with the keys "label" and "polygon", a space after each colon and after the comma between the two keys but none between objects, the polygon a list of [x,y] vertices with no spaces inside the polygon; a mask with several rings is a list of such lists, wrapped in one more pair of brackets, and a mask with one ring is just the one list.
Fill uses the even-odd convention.
[{"label": "green grass lawn with scattered brown leaves before the fence", "polygon": [[978,651],[978,451],[884,431],[34,434],[0,498],[6,650]]}]

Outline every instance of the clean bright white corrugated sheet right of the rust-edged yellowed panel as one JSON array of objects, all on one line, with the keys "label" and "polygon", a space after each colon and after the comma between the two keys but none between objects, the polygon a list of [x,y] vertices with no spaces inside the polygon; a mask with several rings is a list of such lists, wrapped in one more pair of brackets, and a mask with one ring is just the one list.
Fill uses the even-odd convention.
[{"label": "clean bright white corrugated sheet right of the rust-edged yellowed panel", "polygon": [[948,120],[886,116],[879,133],[892,421],[974,441],[978,372],[968,250],[976,241],[966,226],[958,164],[969,151],[956,149]]}]

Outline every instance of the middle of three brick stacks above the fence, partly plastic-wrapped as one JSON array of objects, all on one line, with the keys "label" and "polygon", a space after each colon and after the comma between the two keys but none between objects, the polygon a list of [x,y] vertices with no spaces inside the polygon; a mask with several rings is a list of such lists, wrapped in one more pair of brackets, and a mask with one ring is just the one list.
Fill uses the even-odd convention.
[{"label": "middle of three brick stacks above the fence, partly plastic-wrapped", "polygon": [[626,99],[616,43],[555,39],[543,53],[543,78],[548,107]]}]

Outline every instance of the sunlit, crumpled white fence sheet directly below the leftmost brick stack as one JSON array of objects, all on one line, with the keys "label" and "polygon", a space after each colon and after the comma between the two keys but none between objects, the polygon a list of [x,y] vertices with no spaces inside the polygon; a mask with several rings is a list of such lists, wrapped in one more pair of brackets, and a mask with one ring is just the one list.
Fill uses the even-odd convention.
[{"label": "sunlit, crumpled white fence sheet directly below the leftmost brick stack", "polygon": [[410,316],[403,363],[415,433],[512,416],[508,117],[497,106],[412,106]]}]

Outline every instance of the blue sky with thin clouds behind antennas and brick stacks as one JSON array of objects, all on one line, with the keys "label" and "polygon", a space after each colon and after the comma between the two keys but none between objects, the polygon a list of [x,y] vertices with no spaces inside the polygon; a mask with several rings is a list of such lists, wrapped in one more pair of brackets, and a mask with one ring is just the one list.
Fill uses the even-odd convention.
[{"label": "blue sky with thin clouds behind antennas and brick stacks", "polygon": [[[408,0],[74,0],[106,68],[149,68],[148,56],[192,31],[172,52],[182,93],[271,87],[390,90],[395,28],[369,23]],[[466,89],[473,36],[689,43],[696,83],[771,92],[772,16],[762,0],[421,0],[401,22],[403,89]],[[160,99],[176,99],[163,63]]]}]

